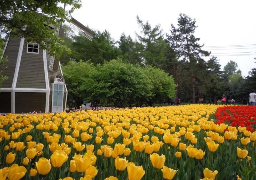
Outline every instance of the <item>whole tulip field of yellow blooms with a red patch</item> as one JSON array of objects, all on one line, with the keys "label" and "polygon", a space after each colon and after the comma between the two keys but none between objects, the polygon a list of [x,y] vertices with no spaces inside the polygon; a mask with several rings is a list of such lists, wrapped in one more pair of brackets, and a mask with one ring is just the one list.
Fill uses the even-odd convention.
[{"label": "whole tulip field of yellow blooms with a red patch", "polygon": [[0,116],[0,180],[256,179],[256,106]]}]

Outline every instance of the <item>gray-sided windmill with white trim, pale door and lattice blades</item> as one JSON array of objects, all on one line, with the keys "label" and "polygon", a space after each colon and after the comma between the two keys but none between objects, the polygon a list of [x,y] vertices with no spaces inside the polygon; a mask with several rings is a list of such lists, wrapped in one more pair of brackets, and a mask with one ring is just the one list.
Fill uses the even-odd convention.
[{"label": "gray-sided windmill with white trim, pale door and lattice blades", "polygon": [[[71,29],[92,40],[93,31],[71,19]],[[54,27],[52,27],[54,28]],[[55,29],[59,34],[59,29]],[[54,30],[54,29],[53,29]],[[50,56],[36,42],[8,38],[4,47],[8,77],[0,87],[0,113],[61,112],[66,109],[68,90],[59,58]]]}]

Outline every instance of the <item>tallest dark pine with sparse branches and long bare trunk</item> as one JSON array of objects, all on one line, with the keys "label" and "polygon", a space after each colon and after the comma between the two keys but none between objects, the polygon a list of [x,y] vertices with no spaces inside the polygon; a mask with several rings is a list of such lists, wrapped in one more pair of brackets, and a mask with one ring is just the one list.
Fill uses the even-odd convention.
[{"label": "tallest dark pine with sparse branches and long bare trunk", "polygon": [[191,19],[185,14],[180,14],[178,18],[178,28],[171,25],[171,35],[168,36],[168,41],[174,47],[174,50],[183,57],[183,60],[187,62],[187,69],[190,74],[190,84],[192,92],[192,103],[196,102],[196,70],[198,61],[203,61],[201,56],[208,56],[208,51],[203,51],[201,48],[203,45],[198,44],[200,38],[194,36],[196,30],[196,20]]}]

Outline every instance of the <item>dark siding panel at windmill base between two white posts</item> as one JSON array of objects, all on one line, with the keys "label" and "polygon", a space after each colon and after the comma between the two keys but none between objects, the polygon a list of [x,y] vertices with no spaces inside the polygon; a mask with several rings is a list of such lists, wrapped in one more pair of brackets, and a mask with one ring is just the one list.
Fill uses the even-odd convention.
[{"label": "dark siding panel at windmill base between two white posts", "polygon": [[46,93],[15,93],[15,113],[45,112]]}]

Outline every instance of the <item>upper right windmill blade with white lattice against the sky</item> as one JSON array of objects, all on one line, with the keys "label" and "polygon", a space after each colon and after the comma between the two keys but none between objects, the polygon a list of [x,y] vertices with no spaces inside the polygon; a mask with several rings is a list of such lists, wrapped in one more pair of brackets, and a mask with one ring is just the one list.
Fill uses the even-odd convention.
[{"label": "upper right windmill blade with white lattice against the sky", "polygon": [[71,22],[69,22],[69,26],[73,31],[85,36],[90,41],[92,40],[93,31],[82,25],[82,23],[77,21],[75,18],[71,17]]}]

